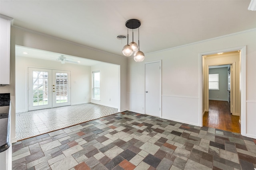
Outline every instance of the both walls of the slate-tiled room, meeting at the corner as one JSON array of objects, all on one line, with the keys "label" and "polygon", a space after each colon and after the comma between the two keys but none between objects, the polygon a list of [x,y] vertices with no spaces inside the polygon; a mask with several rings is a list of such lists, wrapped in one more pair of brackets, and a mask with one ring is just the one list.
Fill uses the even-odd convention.
[{"label": "both walls of the slate-tiled room, meeting at the corner", "polygon": [[[199,77],[202,66],[199,53],[246,45],[246,135],[256,139],[256,29],[199,43],[146,54],[144,62],[162,60],[162,117],[199,125]],[[170,40],[171,41],[171,40]],[[144,106],[144,63],[136,63],[116,55],[86,48],[40,33],[11,27],[10,85],[1,86],[1,93],[10,93],[12,100],[11,139],[15,137],[15,45],[42,49],[120,65],[120,110],[142,111]],[[143,49],[141,49],[143,51]],[[126,82],[127,81],[127,82]],[[188,86],[189,82],[189,86]],[[127,85],[127,86],[126,86]],[[175,100],[178,99],[178,100]],[[126,102],[127,101],[127,102]],[[142,111],[143,112],[143,111]]]}]

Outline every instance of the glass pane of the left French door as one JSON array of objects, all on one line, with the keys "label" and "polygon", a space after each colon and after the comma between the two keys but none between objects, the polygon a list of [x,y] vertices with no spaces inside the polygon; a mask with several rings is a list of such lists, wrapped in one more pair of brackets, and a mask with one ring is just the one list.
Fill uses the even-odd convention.
[{"label": "glass pane of the left French door", "polygon": [[33,106],[48,105],[48,72],[33,71]]}]

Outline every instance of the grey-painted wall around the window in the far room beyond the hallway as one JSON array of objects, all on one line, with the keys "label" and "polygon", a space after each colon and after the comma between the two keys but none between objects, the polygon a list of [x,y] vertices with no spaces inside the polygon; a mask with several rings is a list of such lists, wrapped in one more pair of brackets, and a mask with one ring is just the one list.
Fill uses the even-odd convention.
[{"label": "grey-painted wall around the window in the far room beyond the hallway", "polygon": [[209,90],[209,100],[228,102],[228,67],[209,68],[209,74],[219,74],[219,90]]}]

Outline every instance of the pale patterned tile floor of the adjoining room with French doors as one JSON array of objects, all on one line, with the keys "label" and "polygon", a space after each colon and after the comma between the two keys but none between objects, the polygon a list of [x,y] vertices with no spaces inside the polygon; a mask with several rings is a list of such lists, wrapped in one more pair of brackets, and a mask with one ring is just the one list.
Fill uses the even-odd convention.
[{"label": "pale patterned tile floor of the adjoining room with French doors", "polygon": [[16,113],[16,138],[19,141],[114,113],[118,109],[93,103]]}]

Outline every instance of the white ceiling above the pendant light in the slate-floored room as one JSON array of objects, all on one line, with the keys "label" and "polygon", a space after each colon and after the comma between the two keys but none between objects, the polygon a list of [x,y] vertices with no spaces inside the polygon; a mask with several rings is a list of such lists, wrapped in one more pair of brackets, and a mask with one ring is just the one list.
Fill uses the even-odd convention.
[{"label": "white ceiling above the pendant light in the slate-floored room", "polygon": [[0,13],[14,18],[14,26],[123,56],[126,40],[116,37],[127,34],[129,19],[141,21],[140,50],[147,54],[254,29],[256,12],[248,10],[249,4],[250,0],[0,0]]}]

